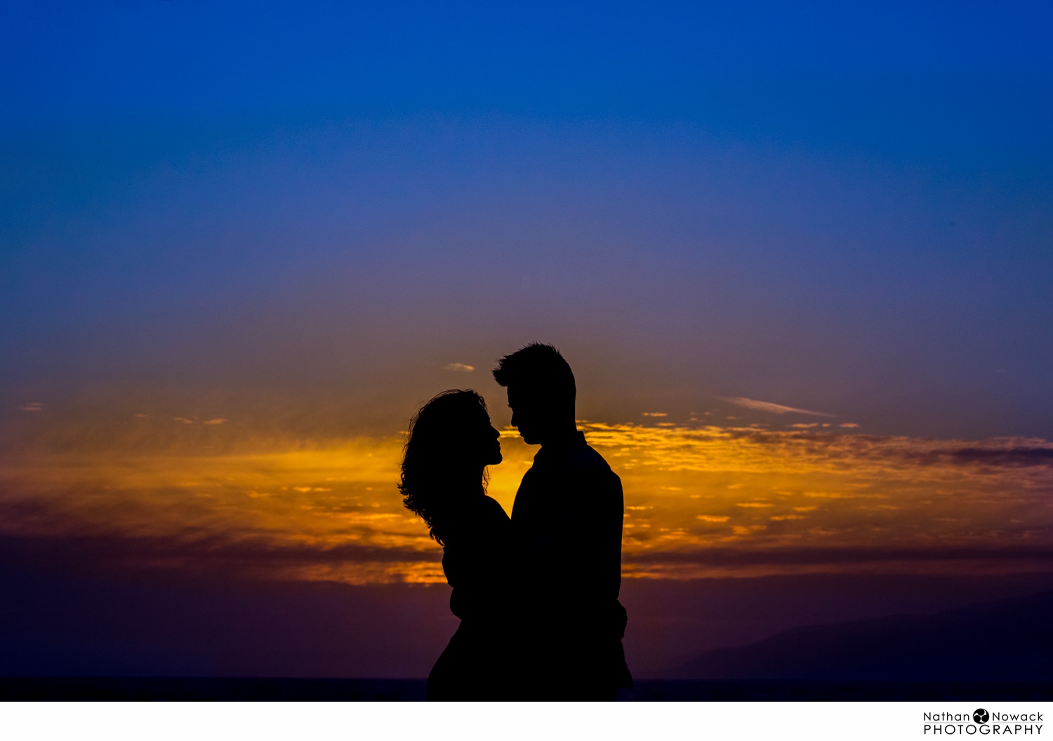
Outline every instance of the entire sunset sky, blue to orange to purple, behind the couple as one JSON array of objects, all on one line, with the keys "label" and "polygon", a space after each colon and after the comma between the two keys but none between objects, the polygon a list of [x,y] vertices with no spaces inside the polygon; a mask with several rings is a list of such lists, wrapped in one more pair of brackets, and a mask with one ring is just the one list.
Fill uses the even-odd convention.
[{"label": "entire sunset sky, blue to orange to purple, behind the couple", "polygon": [[[489,370],[533,340],[625,485],[641,676],[1048,588],[1051,25],[1040,3],[5,4],[23,647],[0,666],[423,676],[455,620],[394,489],[401,430],[479,390],[511,509],[536,448]],[[220,603],[256,621],[234,656]],[[147,627],[106,633],[118,614]],[[246,658],[269,632],[319,638]]]}]

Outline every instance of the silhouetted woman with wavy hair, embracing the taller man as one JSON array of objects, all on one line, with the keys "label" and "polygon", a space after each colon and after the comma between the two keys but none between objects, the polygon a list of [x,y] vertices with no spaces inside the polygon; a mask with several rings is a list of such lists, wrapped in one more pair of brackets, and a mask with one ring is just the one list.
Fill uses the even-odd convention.
[{"label": "silhouetted woman with wavy hair, embracing the taller man", "polygon": [[410,423],[399,490],[442,546],[442,570],[454,588],[457,633],[428,677],[429,700],[490,700],[511,694],[509,627],[510,526],[485,494],[486,466],[501,462],[499,433],[472,390],[449,390]]}]

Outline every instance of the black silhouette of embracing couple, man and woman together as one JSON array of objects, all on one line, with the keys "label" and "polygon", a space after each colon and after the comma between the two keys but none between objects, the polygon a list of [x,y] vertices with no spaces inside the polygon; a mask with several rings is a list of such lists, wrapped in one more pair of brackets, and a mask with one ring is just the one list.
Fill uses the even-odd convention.
[{"label": "black silhouette of embracing couple, man and woman together", "polygon": [[498,432],[472,390],[428,402],[410,426],[399,489],[442,545],[457,633],[430,700],[613,700],[632,686],[621,638],[621,481],[585,444],[574,374],[550,345],[505,356],[494,379],[512,424],[540,444],[511,520],[485,495]]}]

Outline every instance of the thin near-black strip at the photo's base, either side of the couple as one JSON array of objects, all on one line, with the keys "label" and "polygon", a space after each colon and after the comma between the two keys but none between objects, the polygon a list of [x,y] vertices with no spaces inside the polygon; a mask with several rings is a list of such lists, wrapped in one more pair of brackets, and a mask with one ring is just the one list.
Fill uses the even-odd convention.
[{"label": "thin near-black strip at the photo's base, either side of the couple", "polygon": [[[1041,701],[1048,682],[674,682],[640,681],[619,700],[652,701]],[[227,679],[6,677],[0,700],[419,701],[422,679]]]}]

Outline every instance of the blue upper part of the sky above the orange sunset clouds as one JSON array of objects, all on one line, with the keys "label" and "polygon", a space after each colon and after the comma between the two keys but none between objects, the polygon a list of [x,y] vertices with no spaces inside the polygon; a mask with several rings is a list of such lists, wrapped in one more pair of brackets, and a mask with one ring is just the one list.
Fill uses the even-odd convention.
[{"label": "blue upper part of the sky above the orange sunset clouds", "polygon": [[251,386],[395,424],[541,339],[594,419],[1053,435],[1047,5],[2,13],[13,403]]}]

